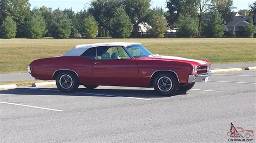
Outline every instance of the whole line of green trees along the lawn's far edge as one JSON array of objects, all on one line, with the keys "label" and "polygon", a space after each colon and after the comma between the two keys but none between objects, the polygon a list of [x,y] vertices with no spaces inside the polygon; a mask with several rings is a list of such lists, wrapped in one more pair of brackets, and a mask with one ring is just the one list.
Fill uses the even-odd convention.
[{"label": "whole line of green trees along the lawn's far edge", "polygon": [[[248,11],[252,17],[255,5]],[[178,37],[222,37],[234,9],[231,0],[167,0],[168,11],[150,6],[151,0],[97,0],[75,12],[46,6],[31,10],[29,0],[2,0],[0,37],[128,38],[140,30],[140,24],[153,38],[163,38],[168,28],[176,27]],[[255,26],[245,30],[252,37]]]}]

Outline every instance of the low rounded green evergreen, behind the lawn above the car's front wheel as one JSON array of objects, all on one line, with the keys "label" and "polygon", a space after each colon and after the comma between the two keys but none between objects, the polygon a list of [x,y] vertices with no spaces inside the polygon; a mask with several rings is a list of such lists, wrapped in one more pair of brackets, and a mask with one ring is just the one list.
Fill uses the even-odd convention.
[{"label": "low rounded green evergreen, behind the lawn above the car's front wheel", "polygon": [[178,37],[194,37],[198,33],[198,21],[190,15],[180,15],[177,27]]}]

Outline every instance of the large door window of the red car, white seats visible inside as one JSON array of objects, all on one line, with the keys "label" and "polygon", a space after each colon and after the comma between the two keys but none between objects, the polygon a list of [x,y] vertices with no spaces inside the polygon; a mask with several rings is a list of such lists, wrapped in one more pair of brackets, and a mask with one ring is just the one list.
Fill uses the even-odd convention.
[{"label": "large door window of the red car, white seats visible inside", "polygon": [[111,60],[111,59],[131,59],[122,46],[114,47],[98,47],[97,59]]}]

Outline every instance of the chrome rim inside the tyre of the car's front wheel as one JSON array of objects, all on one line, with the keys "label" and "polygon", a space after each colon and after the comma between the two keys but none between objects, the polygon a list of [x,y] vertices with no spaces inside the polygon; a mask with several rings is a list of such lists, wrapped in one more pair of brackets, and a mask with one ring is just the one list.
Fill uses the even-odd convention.
[{"label": "chrome rim inside the tyre of the car's front wheel", "polygon": [[158,89],[163,92],[170,91],[172,88],[172,80],[167,76],[162,76],[157,81],[157,86],[158,86]]}]

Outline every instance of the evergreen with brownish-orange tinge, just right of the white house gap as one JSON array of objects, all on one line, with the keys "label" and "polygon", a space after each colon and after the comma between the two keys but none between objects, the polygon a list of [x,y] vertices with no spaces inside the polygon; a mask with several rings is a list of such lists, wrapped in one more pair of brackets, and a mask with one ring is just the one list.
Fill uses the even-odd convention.
[{"label": "evergreen with brownish-orange tinge, just right of the white house gap", "polygon": [[163,13],[158,8],[152,10],[151,18],[149,19],[149,33],[154,38],[164,38],[164,34],[167,31],[167,22]]}]

